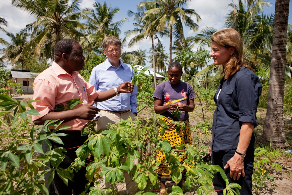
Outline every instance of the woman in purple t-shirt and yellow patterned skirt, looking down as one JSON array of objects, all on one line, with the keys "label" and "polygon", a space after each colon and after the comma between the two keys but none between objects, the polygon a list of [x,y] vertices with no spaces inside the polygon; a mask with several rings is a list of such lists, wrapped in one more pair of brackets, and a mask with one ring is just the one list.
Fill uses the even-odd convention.
[{"label": "woman in purple t-shirt and yellow patterned skirt, looking down", "polygon": [[[162,120],[166,121],[170,128],[165,129],[164,135],[161,139],[167,139],[173,148],[175,145],[192,144],[191,130],[189,123],[189,112],[194,111],[195,93],[189,83],[180,81],[183,74],[183,69],[180,63],[173,62],[168,67],[168,81],[165,81],[157,86],[153,94],[154,110],[156,114],[164,116]],[[178,108],[178,114],[175,112]],[[180,128],[177,132],[176,127],[173,126],[173,121],[185,123],[185,128]],[[159,130],[159,136],[161,136]],[[180,163],[182,164],[186,154],[179,153]],[[157,153],[157,161],[161,161],[157,169],[158,178],[161,183],[161,193],[166,192],[165,182],[171,181],[171,172],[168,170],[165,163],[165,154],[163,152]],[[182,172],[183,178],[178,183],[179,187],[183,187],[183,180],[186,179],[184,170]]]}]

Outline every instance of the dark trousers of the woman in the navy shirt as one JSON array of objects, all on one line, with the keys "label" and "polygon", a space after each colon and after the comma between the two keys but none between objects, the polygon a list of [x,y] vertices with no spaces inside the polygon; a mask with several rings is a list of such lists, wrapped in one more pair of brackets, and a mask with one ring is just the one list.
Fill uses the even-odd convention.
[{"label": "dark trousers of the woman in the navy shirt", "polygon": [[[227,175],[229,183],[238,183],[241,186],[239,192],[241,195],[252,194],[252,175],[253,175],[253,161],[254,161],[254,145],[248,146],[246,156],[244,157],[244,172],[245,177],[240,177],[239,180],[233,180],[230,178],[230,168],[224,169],[223,167],[227,164],[230,158],[234,156],[235,150],[228,152],[212,152],[212,164],[219,165]],[[221,177],[220,173],[214,174],[214,188],[218,194],[223,194],[223,189],[226,188],[226,183]]]}]

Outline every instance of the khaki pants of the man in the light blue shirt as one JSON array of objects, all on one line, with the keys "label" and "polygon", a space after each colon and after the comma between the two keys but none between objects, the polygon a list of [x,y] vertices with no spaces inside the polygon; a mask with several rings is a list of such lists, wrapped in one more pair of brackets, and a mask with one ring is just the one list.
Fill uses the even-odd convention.
[{"label": "khaki pants of the man in the light blue shirt", "polygon": [[[114,124],[119,123],[120,120],[126,120],[129,118],[129,116],[132,118],[132,120],[135,120],[135,115],[131,112],[119,114],[119,113],[110,113],[108,111],[100,111],[98,112],[100,117],[98,118],[97,123],[97,131],[101,129],[108,129],[107,124]],[[138,164],[139,160],[138,158],[135,158],[134,164]],[[126,183],[126,188],[129,191],[130,194],[135,194],[138,190],[138,186],[136,183],[132,180],[131,176],[128,174],[128,172],[124,172],[124,178]],[[105,175],[103,176],[103,180],[105,181]],[[110,183],[105,183],[105,187],[111,187]],[[114,184],[114,187],[117,189],[116,184]]]}]

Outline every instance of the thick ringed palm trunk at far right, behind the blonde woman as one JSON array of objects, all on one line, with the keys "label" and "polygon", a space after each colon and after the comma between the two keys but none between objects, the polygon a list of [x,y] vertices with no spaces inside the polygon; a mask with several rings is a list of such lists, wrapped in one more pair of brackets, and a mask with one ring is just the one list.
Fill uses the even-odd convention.
[{"label": "thick ringed palm trunk at far right, behind the blonde woman", "polygon": [[272,148],[289,146],[283,118],[288,14],[289,0],[276,0],[267,114],[261,138],[262,143]]}]

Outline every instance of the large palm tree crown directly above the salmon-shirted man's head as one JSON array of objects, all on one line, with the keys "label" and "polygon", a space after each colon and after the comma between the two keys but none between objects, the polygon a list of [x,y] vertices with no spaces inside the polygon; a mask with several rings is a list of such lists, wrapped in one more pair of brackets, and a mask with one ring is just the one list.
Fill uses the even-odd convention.
[{"label": "large palm tree crown directly above the salmon-shirted man's head", "polygon": [[34,49],[34,55],[43,53],[53,58],[53,48],[60,39],[79,39],[84,36],[77,28],[79,22],[79,0],[12,0],[12,5],[36,17],[36,21],[27,25],[31,32],[28,47]]}]

